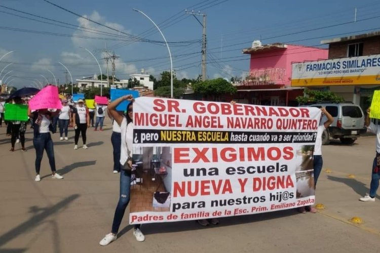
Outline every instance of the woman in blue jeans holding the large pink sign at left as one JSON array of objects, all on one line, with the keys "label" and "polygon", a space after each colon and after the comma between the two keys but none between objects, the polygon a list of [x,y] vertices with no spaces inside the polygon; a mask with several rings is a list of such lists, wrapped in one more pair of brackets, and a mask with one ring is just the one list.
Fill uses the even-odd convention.
[{"label": "woman in blue jeans holding the large pink sign at left", "polygon": [[41,160],[44,155],[44,150],[49,158],[49,164],[52,171],[52,178],[63,179],[61,175],[56,172],[53,140],[50,136],[52,131],[51,117],[58,115],[60,110],[50,112],[48,109],[39,109],[31,112],[28,108],[28,116],[32,119],[33,126],[33,146],[35,149],[35,178],[34,181],[41,181],[40,168]]}]

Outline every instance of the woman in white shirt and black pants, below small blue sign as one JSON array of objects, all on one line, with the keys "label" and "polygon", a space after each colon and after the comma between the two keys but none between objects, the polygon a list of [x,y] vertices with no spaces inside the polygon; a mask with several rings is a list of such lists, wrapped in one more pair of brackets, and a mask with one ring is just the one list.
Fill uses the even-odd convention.
[{"label": "woman in white shirt and black pants, below small blue sign", "polygon": [[83,141],[83,148],[87,149],[86,141],[87,141],[87,128],[90,126],[90,117],[88,113],[88,109],[84,106],[83,99],[78,100],[78,105],[75,107],[75,109],[72,112],[72,126],[75,129],[75,137],[74,142],[75,146],[74,149],[78,149],[78,141],[79,141],[79,135],[82,134],[82,141]]}]

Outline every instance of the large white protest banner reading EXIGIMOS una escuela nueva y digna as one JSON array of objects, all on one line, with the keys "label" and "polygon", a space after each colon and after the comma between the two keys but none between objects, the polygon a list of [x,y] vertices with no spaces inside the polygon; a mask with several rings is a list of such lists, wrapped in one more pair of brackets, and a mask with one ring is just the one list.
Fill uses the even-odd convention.
[{"label": "large white protest banner reading EXIGIMOS una escuela nueva y digna", "polygon": [[142,97],[133,112],[131,224],[314,204],[318,108]]}]

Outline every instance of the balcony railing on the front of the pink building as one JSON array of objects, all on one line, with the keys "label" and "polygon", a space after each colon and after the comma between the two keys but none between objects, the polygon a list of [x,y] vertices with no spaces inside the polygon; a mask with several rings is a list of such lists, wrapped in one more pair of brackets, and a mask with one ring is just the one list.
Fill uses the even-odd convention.
[{"label": "balcony railing on the front of the pink building", "polygon": [[269,85],[279,81],[285,81],[284,68],[245,71],[242,75],[242,85]]}]

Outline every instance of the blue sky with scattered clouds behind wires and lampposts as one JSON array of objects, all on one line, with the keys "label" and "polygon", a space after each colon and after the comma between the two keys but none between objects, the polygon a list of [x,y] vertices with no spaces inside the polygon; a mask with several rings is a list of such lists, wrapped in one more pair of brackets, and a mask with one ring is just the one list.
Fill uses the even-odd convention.
[{"label": "blue sky with scattered clouds behind wires and lampposts", "polygon": [[[35,83],[46,82],[42,75],[54,84],[48,70],[59,83],[64,83],[65,69],[58,62],[67,66],[74,79],[100,74],[95,60],[81,47],[95,55],[105,73],[106,64],[101,60],[105,57],[102,52],[105,43],[110,52],[120,57],[116,63],[118,78],[128,79],[142,68],[159,78],[162,71],[170,70],[168,51],[162,43],[154,43],[163,41],[160,33],[133,8],[153,19],[170,41],[178,78],[196,78],[201,74],[202,26],[193,16],[185,15],[185,9],[207,15],[208,78],[241,76],[242,71],[249,69],[249,56],[242,54],[242,49],[249,48],[255,39],[261,39],[262,44],[321,46],[322,39],[380,30],[377,0],[48,1],[118,31],[79,18],[43,0],[1,0],[0,57],[15,52],[0,62],[1,69],[13,63],[0,79],[10,77],[8,82],[13,79],[12,86],[36,86]],[[357,22],[353,23],[355,7]],[[202,22],[202,17],[197,17]],[[139,41],[131,41],[131,36],[138,36]]]}]

